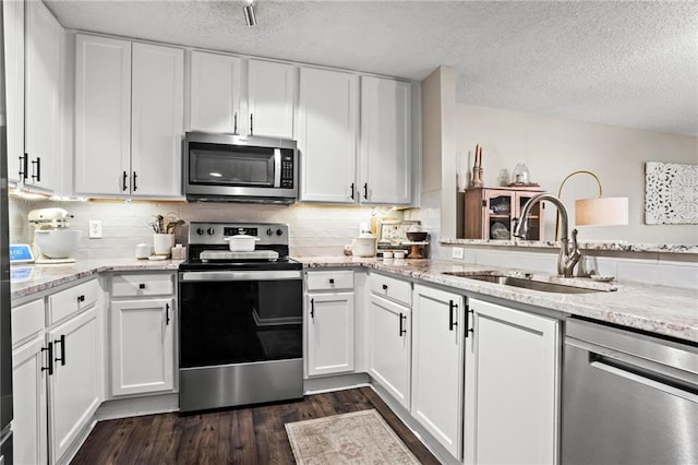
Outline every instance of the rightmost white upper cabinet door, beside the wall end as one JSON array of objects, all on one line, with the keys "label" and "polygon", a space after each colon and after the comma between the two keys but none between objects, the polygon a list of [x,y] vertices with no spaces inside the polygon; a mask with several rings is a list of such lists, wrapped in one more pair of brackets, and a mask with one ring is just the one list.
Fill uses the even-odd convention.
[{"label": "rightmost white upper cabinet door, beside the wall end", "polygon": [[361,203],[412,201],[411,87],[361,78]]}]

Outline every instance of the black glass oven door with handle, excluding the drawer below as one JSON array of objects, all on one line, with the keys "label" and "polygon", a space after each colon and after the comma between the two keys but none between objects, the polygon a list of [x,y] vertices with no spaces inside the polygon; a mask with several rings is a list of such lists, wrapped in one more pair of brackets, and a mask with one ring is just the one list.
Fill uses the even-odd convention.
[{"label": "black glass oven door with handle, excluding the drawer below", "polygon": [[180,367],[302,358],[300,271],[180,273]]}]

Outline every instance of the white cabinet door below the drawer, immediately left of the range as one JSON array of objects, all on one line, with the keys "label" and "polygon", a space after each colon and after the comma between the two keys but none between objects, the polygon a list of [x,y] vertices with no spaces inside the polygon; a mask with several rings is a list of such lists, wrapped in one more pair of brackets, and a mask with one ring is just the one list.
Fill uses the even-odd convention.
[{"label": "white cabinet door below the drawer, immediately left of the range", "polygon": [[111,302],[111,394],[171,391],[174,386],[172,299]]}]

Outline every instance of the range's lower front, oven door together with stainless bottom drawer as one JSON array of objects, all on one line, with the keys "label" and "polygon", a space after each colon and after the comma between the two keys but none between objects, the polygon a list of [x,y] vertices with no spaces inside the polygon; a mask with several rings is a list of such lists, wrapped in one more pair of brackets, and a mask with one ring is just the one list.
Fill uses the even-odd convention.
[{"label": "range's lower front, oven door together with stainless bottom drawer", "polygon": [[303,395],[302,273],[179,273],[180,412]]}]

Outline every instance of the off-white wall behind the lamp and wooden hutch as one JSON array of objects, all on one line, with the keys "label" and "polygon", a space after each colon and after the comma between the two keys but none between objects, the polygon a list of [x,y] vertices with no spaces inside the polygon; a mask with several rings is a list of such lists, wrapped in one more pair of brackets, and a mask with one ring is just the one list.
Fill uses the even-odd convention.
[{"label": "off-white wall behind the lamp and wooden hutch", "polygon": [[[698,242],[697,225],[645,225],[645,163],[698,164],[697,138],[459,104],[456,154],[467,154],[470,168],[476,144],[483,146],[486,187],[500,186],[500,170],[507,169],[510,175],[522,162],[531,172],[531,181],[555,195],[568,174],[586,169],[600,178],[604,195],[629,198],[627,226],[582,226],[579,240]],[[574,220],[574,201],[597,194],[593,178],[577,175],[565,183],[561,200]],[[549,212],[545,236],[552,238],[554,206]],[[455,222],[455,212],[444,214]]]}]

